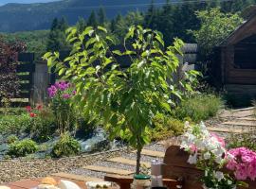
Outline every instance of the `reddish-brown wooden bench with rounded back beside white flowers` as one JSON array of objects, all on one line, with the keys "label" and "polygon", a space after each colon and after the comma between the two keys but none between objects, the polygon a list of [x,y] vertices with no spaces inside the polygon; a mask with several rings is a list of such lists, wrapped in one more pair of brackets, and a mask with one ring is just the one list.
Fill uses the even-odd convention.
[{"label": "reddish-brown wooden bench with rounded back beside white flowers", "polygon": [[[202,189],[202,183],[199,181],[203,171],[198,170],[193,164],[187,163],[189,159],[188,152],[180,149],[179,146],[170,146],[164,156],[163,178],[164,185],[168,188],[182,189]],[[106,175],[104,180],[117,182],[121,189],[129,189],[133,181],[132,176],[124,177],[119,175]],[[256,181],[247,180],[249,189],[256,188]]]}]

